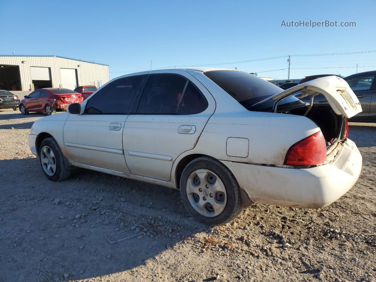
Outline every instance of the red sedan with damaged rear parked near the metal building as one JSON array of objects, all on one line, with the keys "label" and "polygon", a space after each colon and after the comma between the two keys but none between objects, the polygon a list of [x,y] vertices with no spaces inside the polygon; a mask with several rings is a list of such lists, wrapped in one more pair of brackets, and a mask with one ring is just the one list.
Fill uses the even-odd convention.
[{"label": "red sedan with damaged rear parked near the metal building", "polygon": [[81,94],[67,88],[42,88],[31,92],[20,102],[21,114],[45,112],[51,115],[55,109],[67,110],[71,103],[81,103]]}]

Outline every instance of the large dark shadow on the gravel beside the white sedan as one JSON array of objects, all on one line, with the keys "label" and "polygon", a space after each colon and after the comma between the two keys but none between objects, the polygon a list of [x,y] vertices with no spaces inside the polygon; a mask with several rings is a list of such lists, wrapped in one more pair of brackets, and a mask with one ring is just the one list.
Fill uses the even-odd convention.
[{"label": "large dark shadow on the gravel beside the white sedan", "polygon": [[[27,280],[32,269],[49,281],[130,270],[210,229],[193,220],[177,190],[84,169],[52,182],[37,158],[1,160],[0,171],[5,281]],[[137,228],[146,235],[115,244],[105,238],[133,227],[127,236]]]}]

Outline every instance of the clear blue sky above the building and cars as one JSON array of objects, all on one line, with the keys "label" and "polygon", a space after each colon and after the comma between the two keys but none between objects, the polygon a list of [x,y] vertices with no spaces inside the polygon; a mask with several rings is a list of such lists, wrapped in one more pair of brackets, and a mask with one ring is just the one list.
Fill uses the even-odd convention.
[{"label": "clear blue sky above the building and cars", "polygon": [[[108,64],[111,78],[148,70],[150,61],[154,69],[284,56],[218,67],[286,79],[287,70],[271,70],[287,68],[287,55],[376,50],[375,6],[374,0],[0,0],[0,54],[82,58]],[[356,27],[280,27],[282,20],[355,21]],[[290,78],[346,76],[357,63],[358,72],[376,69],[376,53],[293,56]]]}]

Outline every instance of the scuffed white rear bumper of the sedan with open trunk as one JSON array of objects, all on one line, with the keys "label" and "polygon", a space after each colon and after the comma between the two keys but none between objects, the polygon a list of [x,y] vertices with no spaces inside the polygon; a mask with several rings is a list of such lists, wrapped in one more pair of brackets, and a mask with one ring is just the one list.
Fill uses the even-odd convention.
[{"label": "scuffed white rear bumper of the sedan with open trunk", "polygon": [[343,196],[358,180],[362,156],[347,140],[330,164],[295,169],[222,161],[252,202],[294,208],[322,208]]}]

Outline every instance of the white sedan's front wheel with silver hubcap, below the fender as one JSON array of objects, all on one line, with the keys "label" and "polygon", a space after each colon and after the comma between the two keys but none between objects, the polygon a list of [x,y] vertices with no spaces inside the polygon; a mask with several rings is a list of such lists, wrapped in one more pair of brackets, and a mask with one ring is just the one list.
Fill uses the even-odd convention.
[{"label": "white sedan's front wheel with silver hubcap, below the fender", "polygon": [[71,170],[65,167],[63,154],[54,138],[44,139],[39,148],[39,161],[48,179],[62,181],[70,177]]}]

